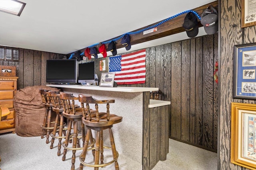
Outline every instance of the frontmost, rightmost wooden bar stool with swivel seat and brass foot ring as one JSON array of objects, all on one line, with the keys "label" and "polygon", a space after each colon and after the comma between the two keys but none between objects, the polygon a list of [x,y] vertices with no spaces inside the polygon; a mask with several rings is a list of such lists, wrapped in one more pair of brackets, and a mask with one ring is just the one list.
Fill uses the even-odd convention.
[{"label": "frontmost, rightmost wooden bar stool with swivel seat and brass foot ring", "polygon": [[[118,152],[116,151],[116,145],[114,142],[114,136],[112,133],[112,127],[116,123],[120,123],[122,121],[122,117],[110,114],[109,112],[109,104],[114,103],[114,99],[110,100],[96,100],[92,96],[85,96],[82,94],[79,94],[79,102],[81,102],[82,109],[84,108],[84,103],[86,103],[87,108],[87,114],[82,117],[82,122],[86,125],[88,128],[86,133],[86,138],[84,142],[84,148],[82,151],[82,154],[80,155],[80,170],[83,169],[84,165],[89,167],[94,167],[94,170],[98,170],[99,167],[108,166],[112,163],[115,163],[115,169],[119,170],[119,165],[117,162],[118,159]],[[95,104],[95,113],[91,114],[90,106],[89,104]],[[98,111],[98,104],[106,104],[106,112],[100,112]],[[84,111],[85,112],[85,111]],[[106,147],[103,144],[103,130],[108,129],[109,131],[109,137],[110,137],[110,145],[111,147]],[[92,147],[88,149],[88,143],[90,139],[91,130],[97,131],[96,135],[96,147]],[[86,154],[88,150],[95,149],[95,156],[94,156],[94,164],[89,164],[85,161]],[[113,160],[110,162],[104,163],[104,156],[103,152],[104,149],[110,149],[112,150],[112,156]],[[99,164],[100,161],[100,164]]]}]

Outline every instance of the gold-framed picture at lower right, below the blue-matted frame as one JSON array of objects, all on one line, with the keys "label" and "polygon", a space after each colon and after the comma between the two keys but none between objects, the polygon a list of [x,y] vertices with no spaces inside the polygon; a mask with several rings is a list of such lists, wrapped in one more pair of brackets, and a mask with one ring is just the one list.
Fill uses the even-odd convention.
[{"label": "gold-framed picture at lower right, below the blue-matted frame", "polygon": [[256,169],[256,104],[231,103],[231,163]]}]

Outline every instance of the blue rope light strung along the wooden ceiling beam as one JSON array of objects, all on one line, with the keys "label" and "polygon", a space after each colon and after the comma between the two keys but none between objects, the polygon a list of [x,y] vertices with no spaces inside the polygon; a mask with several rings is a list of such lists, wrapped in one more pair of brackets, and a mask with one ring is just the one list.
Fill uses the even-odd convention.
[{"label": "blue rope light strung along the wooden ceiling beam", "polygon": [[[165,20],[163,20],[163,21],[161,21],[161,22],[159,22],[159,23],[157,23],[157,24],[155,24],[155,25],[152,25],[152,26],[150,26],[150,27],[147,27],[147,28],[141,29],[141,30],[139,30],[139,31],[135,31],[135,32],[125,33],[125,34],[121,35],[120,37],[117,37],[117,38],[112,39],[112,40],[110,40],[110,41],[103,41],[101,44],[107,44],[107,43],[110,43],[111,41],[116,41],[116,40],[118,40],[118,39],[124,37],[124,35],[126,35],[126,34],[136,34],[136,33],[142,32],[142,31],[146,31],[147,29],[151,29],[151,28],[157,27],[158,25],[161,25],[162,23],[165,23],[166,21],[169,21],[169,20],[171,20],[171,19],[173,19],[173,18],[176,18],[177,16],[180,16],[180,15],[185,14],[185,13],[188,13],[188,12],[194,13],[194,14],[196,15],[196,17],[197,17],[199,20],[201,20],[201,17],[200,17],[195,11],[193,11],[193,10],[187,10],[187,11],[184,11],[184,12],[180,12],[179,14],[176,14],[175,16],[171,16],[171,17],[169,17],[169,18],[167,18],[167,19],[165,19]],[[96,44],[90,45],[90,46],[88,46],[88,48],[94,47],[94,46],[99,45],[99,44],[100,44],[100,43],[96,43]],[[80,55],[84,55],[84,52],[82,52]],[[72,57],[73,57],[73,55],[71,55],[71,56],[69,57],[69,59],[71,59]]]}]

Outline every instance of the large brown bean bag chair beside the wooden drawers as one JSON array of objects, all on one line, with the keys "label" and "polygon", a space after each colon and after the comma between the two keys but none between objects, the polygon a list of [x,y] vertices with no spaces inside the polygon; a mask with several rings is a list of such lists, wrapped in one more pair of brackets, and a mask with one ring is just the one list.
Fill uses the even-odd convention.
[{"label": "large brown bean bag chair beside the wooden drawers", "polygon": [[[17,90],[14,96],[15,131],[19,136],[32,137],[42,134],[41,125],[44,122],[46,108],[42,104],[39,89],[60,91],[48,86],[27,86]],[[52,115],[52,121],[55,121],[55,114]]]}]

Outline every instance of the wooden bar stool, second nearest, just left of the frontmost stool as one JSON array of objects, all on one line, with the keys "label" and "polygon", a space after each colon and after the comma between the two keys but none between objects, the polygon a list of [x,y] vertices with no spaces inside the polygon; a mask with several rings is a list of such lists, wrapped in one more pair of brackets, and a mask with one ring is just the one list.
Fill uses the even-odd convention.
[{"label": "wooden bar stool, second nearest, just left of the frontmost stool", "polygon": [[[66,132],[66,139],[64,143],[62,143],[62,146],[64,147],[63,151],[63,156],[62,160],[66,160],[66,153],[67,150],[72,150],[72,166],[71,170],[75,169],[75,161],[76,161],[76,150],[83,149],[83,147],[80,147],[79,139],[82,138],[83,145],[84,145],[84,140],[85,140],[85,132],[84,132],[84,124],[82,123],[82,108],[81,107],[76,107],[75,106],[75,100],[78,100],[78,97],[73,96],[73,94],[68,94],[68,93],[61,93],[60,94],[60,99],[62,100],[63,104],[63,116],[69,119],[68,122],[68,130]],[[87,112],[87,110],[84,110]],[[81,132],[82,136],[78,136],[78,121],[81,121]],[[73,137],[70,137],[71,129],[72,129],[72,124],[73,124]],[[91,146],[94,145],[94,139],[92,138],[92,134],[90,136],[90,142]],[[72,147],[68,147],[68,143],[70,139],[73,139]]]}]

